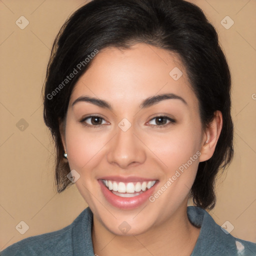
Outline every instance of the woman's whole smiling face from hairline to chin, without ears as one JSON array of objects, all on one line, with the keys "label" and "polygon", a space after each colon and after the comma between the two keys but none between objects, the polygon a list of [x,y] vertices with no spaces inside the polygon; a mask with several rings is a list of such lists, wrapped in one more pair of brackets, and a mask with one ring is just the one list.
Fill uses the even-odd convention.
[{"label": "woman's whole smiling face from hairline to chin, without ears", "polygon": [[94,218],[139,234],[186,208],[204,137],[179,59],[139,43],[94,57],[72,91],[62,139]]}]

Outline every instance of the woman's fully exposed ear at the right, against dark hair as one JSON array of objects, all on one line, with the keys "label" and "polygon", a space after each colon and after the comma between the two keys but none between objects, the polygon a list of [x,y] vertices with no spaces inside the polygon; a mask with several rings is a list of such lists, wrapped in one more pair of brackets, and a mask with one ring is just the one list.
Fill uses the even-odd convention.
[{"label": "woman's fully exposed ear at the right, against dark hair", "polygon": [[209,125],[204,130],[204,135],[202,138],[201,145],[201,155],[199,161],[208,160],[214,153],[220,131],[222,128],[222,113],[217,110],[214,112],[214,117]]}]

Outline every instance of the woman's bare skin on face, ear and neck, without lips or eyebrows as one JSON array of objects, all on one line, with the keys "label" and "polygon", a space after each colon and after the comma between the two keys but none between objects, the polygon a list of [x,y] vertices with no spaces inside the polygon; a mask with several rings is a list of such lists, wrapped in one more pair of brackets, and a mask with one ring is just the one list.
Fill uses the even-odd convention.
[{"label": "woman's bare skin on face, ear and neck, without lips or eyebrows", "polygon": [[[174,67],[183,73],[178,80],[169,75]],[[140,109],[145,98],[162,93],[174,93],[186,103],[164,99]],[[72,106],[85,95],[107,101],[112,109],[85,101]],[[103,118],[100,127],[92,127],[95,119],[84,121],[90,126],[80,122],[91,114]],[[175,123],[163,120],[159,124],[152,119],[162,115]],[[131,124],[125,132],[118,127],[123,118]],[[198,100],[174,53],[144,43],[130,49],[101,50],[77,81],[66,122],[60,123],[70,169],[80,175],[75,184],[93,212],[94,253],[190,255],[200,228],[188,220],[188,193],[199,161],[212,156],[221,127],[222,115],[216,111],[211,124],[202,129]],[[101,193],[97,179],[104,175],[157,179],[157,191],[198,151],[200,156],[154,202],[147,200],[135,209],[124,210],[112,206]],[[118,228],[123,221],[130,226],[125,234]]]}]

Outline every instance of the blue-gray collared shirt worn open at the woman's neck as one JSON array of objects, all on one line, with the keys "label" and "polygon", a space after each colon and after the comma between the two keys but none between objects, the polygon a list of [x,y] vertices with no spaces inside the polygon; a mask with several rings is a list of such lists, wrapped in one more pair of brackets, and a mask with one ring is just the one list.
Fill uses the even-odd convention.
[{"label": "blue-gray collared shirt worn open at the woman's neck", "polygon": [[[191,256],[256,256],[256,243],[241,240],[224,232],[209,213],[195,206],[187,207],[190,222],[200,226],[200,234]],[[93,215],[84,209],[68,226],[18,241],[1,256],[94,256],[91,227]]]}]

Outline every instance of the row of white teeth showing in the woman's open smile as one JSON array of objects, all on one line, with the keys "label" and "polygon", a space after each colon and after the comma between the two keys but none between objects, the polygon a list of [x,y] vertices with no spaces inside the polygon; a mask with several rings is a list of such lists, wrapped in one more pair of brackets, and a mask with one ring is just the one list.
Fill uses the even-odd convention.
[{"label": "row of white teeth showing in the woman's open smile", "polygon": [[101,181],[113,194],[121,197],[133,197],[151,188],[157,180],[142,182],[118,182],[101,179]]}]

